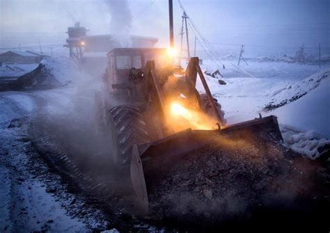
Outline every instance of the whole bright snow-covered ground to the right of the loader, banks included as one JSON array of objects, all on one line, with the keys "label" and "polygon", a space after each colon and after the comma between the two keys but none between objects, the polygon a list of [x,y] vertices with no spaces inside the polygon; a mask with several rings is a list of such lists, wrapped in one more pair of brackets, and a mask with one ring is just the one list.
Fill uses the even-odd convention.
[{"label": "whole bright snow-covered ground to the right of the loader, banks included", "polygon": [[[202,69],[207,72],[219,68],[204,63]],[[319,148],[330,145],[330,65],[320,69],[317,65],[249,62],[239,70],[231,61],[222,63],[226,69],[219,71],[227,85],[219,85],[218,79],[208,75],[205,78],[228,124],[251,120],[258,113],[276,115],[285,143],[293,150],[315,159],[320,156]],[[201,81],[197,88],[203,91]]]}]

